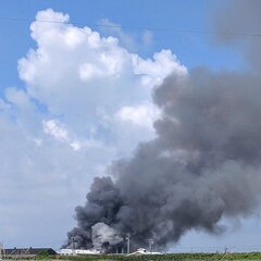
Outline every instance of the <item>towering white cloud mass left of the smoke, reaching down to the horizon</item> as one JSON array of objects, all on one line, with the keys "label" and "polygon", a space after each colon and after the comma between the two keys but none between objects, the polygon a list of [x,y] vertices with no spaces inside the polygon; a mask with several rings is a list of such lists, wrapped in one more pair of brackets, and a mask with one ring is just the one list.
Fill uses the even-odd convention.
[{"label": "towering white cloud mass left of the smoke, reaching down to the horizon", "polygon": [[144,60],[115,37],[71,25],[67,14],[46,10],[36,18],[59,23],[32,24],[36,48],[18,61],[25,87],[0,99],[0,229],[12,244],[42,238],[39,221],[57,227],[46,240],[65,237],[92,177],[154,137],[152,88],[186,74],[171,51]]}]

